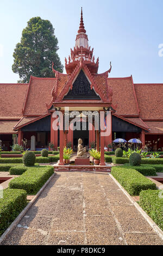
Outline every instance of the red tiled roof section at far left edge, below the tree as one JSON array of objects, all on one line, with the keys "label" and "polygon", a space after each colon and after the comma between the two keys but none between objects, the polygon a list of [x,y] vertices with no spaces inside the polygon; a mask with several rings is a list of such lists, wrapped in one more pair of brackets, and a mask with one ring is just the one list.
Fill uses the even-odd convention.
[{"label": "red tiled roof section at far left edge, below the tree", "polygon": [[0,118],[21,118],[28,84],[0,84]]}]

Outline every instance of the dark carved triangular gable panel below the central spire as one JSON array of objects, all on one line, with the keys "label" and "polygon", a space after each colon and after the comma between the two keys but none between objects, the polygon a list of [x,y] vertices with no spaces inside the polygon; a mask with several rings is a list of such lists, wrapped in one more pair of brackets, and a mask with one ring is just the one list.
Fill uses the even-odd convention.
[{"label": "dark carved triangular gable panel below the central spire", "polygon": [[91,84],[84,71],[80,70],[73,83],[72,90],[69,90],[64,100],[101,100],[101,98],[95,93],[93,88],[91,89]]}]

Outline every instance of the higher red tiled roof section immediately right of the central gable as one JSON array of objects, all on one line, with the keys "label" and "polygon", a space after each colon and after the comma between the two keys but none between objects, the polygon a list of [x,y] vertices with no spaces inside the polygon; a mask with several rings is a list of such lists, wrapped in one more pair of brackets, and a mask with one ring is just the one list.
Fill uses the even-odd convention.
[{"label": "higher red tiled roof section immediately right of the central gable", "polygon": [[139,115],[132,77],[108,78],[113,90],[112,105],[117,104],[118,115]]}]

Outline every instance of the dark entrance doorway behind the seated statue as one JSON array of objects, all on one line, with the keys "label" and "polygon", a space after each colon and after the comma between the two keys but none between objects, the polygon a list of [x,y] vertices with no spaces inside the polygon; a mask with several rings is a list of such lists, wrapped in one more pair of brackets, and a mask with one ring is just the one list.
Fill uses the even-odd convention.
[{"label": "dark entrance doorway behind the seated statue", "polygon": [[[76,126],[76,123],[74,124]],[[78,148],[78,139],[81,138],[83,141],[83,146],[87,149],[89,148],[89,129],[88,124],[85,125],[86,130],[82,130],[82,122],[80,123],[80,130],[74,130],[73,131],[73,147],[74,150],[77,150]]]}]

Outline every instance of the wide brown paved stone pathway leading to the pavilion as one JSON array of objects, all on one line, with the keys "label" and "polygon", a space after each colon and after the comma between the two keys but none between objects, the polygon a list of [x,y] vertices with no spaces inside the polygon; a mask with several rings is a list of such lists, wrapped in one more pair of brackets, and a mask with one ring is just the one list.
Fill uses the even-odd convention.
[{"label": "wide brown paved stone pathway leading to the pavilion", "polygon": [[163,245],[106,173],[64,172],[49,182],[3,245]]}]

